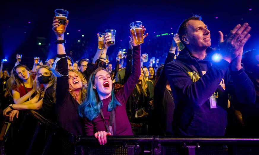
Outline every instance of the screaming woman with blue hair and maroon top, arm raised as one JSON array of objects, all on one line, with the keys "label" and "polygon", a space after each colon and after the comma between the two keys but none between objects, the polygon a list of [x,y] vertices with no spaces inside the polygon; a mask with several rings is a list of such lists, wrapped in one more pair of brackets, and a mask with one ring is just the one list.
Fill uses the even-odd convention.
[{"label": "screaming woman with blue hair and maroon top, arm raised", "polygon": [[[144,26],[142,29],[144,33]],[[107,135],[133,135],[125,105],[140,76],[140,45],[132,41],[133,69],[123,88],[114,94],[109,72],[97,68],[89,78],[87,98],[78,109],[84,117],[86,135],[94,135],[102,145],[107,142]]]}]

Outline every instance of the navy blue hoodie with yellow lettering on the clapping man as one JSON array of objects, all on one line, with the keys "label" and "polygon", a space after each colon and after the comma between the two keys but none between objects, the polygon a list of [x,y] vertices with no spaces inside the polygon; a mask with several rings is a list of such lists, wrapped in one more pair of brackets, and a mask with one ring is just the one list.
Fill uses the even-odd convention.
[{"label": "navy blue hoodie with yellow lettering on the clapping man", "polygon": [[[229,70],[226,60],[213,62],[208,47],[203,60],[192,57],[187,48],[165,67],[174,96],[173,130],[182,136],[224,136],[227,125],[228,94],[240,103],[255,102],[255,88],[242,67]],[[211,108],[214,94],[217,108]],[[213,106],[215,107],[215,106]]]}]

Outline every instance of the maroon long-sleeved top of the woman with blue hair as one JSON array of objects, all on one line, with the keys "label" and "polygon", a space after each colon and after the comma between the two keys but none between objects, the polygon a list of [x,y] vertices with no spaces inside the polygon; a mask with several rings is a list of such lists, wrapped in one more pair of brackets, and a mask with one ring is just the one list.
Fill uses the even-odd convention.
[{"label": "maroon long-sleeved top of the woman with blue hair", "polygon": [[[115,108],[115,123],[116,123],[116,135],[133,135],[131,126],[126,114],[126,102],[134,89],[136,83],[138,82],[140,76],[140,46],[133,47],[133,69],[131,76],[129,76],[127,82],[124,86],[115,94],[116,100],[120,102],[122,106],[116,106]],[[105,121],[109,125],[110,112],[108,111],[108,104],[111,100],[111,96],[102,100],[103,107],[101,108],[104,114]],[[86,135],[94,135],[98,131],[107,131],[105,127],[104,119],[101,117],[101,114],[92,121],[89,121],[87,118],[85,122],[85,133]]]}]

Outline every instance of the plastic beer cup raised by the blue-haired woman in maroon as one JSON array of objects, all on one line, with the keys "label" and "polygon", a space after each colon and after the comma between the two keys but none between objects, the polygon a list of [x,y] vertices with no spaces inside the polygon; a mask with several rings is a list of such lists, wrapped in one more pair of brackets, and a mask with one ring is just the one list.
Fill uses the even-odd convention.
[{"label": "plastic beer cup raised by the blue-haired woman in maroon", "polygon": [[130,24],[132,30],[132,36],[134,37],[136,44],[142,44],[144,42],[142,22],[137,21]]}]

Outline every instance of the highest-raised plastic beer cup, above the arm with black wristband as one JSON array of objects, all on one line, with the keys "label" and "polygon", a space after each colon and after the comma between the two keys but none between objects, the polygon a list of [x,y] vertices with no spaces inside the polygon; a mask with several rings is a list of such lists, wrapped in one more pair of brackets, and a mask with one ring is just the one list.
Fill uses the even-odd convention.
[{"label": "highest-raised plastic beer cup, above the arm with black wristband", "polygon": [[56,19],[60,20],[60,25],[57,27],[57,31],[60,33],[66,32],[66,20],[67,20],[68,11],[63,9],[56,9],[55,16]]}]

